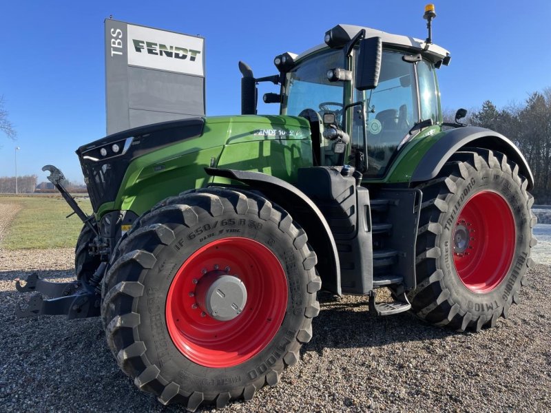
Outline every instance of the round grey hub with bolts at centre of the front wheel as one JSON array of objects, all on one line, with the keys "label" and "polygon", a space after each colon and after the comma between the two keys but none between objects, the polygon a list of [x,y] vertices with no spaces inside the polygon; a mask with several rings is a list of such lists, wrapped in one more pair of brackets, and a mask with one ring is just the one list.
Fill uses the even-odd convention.
[{"label": "round grey hub with bolts at centre of the front wheel", "polygon": [[247,288],[234,275],[224,271],[209,271],[196,288],[197,304],[204,313],[219,321],[238,317],[247,304]]}]

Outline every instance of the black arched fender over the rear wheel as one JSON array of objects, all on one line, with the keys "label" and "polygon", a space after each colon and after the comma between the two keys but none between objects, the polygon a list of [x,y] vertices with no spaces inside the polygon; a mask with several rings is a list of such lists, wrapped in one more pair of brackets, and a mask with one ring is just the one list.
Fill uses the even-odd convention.
[{"label": "black arched fender over the rear wheel", "polygon": [[411,182],[424,182],[435,178],[440,169],[450,159],[453,153],[463,147],[479,147],[505,153],[506,156],[519,165],[520,173],[528,180],[528,189],[534,187],[534,176],[519,148],[505,136],[484,127],[461,127],[444,131],[440,138],[426,151],[413,172]]}]

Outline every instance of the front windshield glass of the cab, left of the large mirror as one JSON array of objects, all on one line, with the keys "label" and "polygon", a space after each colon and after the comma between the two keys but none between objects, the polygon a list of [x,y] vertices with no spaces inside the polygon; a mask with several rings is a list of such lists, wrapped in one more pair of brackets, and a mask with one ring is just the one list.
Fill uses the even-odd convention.
[{"label": "front windshield glass of the cab, left of the large mirror", "polygon": [[342,50],[331,50],[315,56],[287,74],[287,90],[283,101],[287,115],[298,116],[304,109],[316,112],[340,111],[344,85],[342,82],[331,83],[327,80],[327,70],[333,67],[344,67]]}]

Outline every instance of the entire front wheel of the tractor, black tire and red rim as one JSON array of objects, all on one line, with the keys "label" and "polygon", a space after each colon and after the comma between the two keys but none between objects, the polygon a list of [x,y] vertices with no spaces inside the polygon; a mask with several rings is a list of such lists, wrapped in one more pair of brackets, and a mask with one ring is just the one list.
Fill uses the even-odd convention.
[{"label": "entire front wheel of the tractor, black tire and red rim", "polygon": [[[169,198],[118,244],[103,284],[107,343],[160,403],[193,411],[249,400],[275,385],[312,337],[315,263],[306,233],[258,195],[211,187]],[[232,293],[231,308],[246,302],[230,320],[205,307],[229,296],[205,293],[222,275],[247,290],[246,299]]]}]

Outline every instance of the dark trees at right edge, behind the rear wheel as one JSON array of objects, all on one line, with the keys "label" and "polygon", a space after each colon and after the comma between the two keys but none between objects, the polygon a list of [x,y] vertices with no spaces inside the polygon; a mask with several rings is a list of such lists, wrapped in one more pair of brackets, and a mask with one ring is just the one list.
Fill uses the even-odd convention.
[{"label": "dark trees at right edge, behind the rear wheel", "polygon": [[[451,118],[449,112],[446,118]],[[506,136],[520,149],[534,174],[536,204],[551,204],[551,87],[534,92],[521,104],[499,109],[486,100],[471,110],[467,123],[486,127]]]}]

